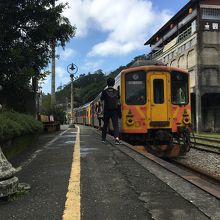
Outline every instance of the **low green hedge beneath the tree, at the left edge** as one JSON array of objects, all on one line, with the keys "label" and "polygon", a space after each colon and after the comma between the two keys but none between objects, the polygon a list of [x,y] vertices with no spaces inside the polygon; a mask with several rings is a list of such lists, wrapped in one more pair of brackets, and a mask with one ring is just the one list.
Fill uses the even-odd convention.
[{"label": "low green hedge beneath the tree, at the left edge", "polygon": [[42,129],[42,123],[30,115],[17,112],[0,112],[0,141],[40,132]]}]

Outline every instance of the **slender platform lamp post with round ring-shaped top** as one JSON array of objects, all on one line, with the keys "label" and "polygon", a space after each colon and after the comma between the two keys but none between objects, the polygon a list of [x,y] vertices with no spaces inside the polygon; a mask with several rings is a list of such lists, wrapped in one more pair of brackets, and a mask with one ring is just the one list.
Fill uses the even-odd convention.
[{"label": "slender platform lamp post with round ring-shaped top", "polygon": [[74,74],[77,73],[78,67],[75,64],[69,64],[67,66],[67,72],[70,74],[71,79],[71,118],[70,118],[70,126],[74,128],[74,116],[73,116],[73,107],[74,107],[74,96],[73,96],[73,80],[74,80]]}]

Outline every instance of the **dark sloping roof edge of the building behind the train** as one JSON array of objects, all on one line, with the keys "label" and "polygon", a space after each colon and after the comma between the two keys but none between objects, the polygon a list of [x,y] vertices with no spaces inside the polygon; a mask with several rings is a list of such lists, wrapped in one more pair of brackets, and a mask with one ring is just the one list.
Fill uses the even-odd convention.
[{"label": "dark sloping roof edge of the building behind the train", "polygon": [[159,29],[149,40],[147,40],[144,45],[153,44],[156,42],[157,37],[161,37],[164,33],[170,29],[170,25],[177,24],[183,17],[185,17],[189,8],[193,7],[196,3],[200,2],[200,0],[190,0],[182,9],[180,9],[161,29]]}]

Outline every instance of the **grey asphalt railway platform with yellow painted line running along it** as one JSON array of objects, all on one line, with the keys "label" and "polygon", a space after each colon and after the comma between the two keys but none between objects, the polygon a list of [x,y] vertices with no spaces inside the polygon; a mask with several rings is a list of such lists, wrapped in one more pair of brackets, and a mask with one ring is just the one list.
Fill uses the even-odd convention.
[{"label": "grey asphalt railway platform with yellow painted line running along it", "polygon": [[31,189],[0,219],[219,219],[220,201],[101,132],[77,125],[40,137],[12,161]]}]

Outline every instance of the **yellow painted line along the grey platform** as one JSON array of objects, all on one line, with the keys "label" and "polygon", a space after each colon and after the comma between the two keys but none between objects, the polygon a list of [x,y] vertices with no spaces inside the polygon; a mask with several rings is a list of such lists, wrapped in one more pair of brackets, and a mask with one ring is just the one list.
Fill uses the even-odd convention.
[{"label": "yellow painted line along the grey platform", "polygon": [[80,128],[77,127],[76,142],[73,152],[73,163],[66,194],[63,220],[80,220]]}]

